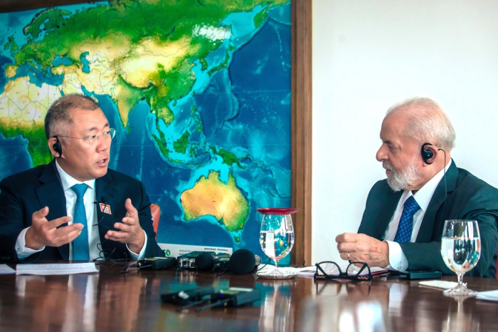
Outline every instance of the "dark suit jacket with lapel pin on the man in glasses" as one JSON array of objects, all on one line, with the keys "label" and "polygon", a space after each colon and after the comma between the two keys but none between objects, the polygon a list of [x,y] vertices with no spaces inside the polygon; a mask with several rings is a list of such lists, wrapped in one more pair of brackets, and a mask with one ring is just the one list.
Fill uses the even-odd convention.
[{"label": "dark suit jacket with lapel pin on the man in glasses", "polygon": [[[18,261],[15,244],[19,233],[31,226],[33,212],[48,207],[47,220],[67,215],[63,187],[55,169],[55,160],[48,165],[34,167],[31,170],[11,175],[0,182],[0,259],[2,261]],[[142,182],[114,170],[95,180],[97,200],[107,199],[112,214],[104,214],[97,208],[100,243],[105,256],[122,259],[129,251],[125,244],[104,238],[109,230],[117,230],[115,222],[121,222],[126,214],[124,202],[132,199],[132,204],[139,213],[140,226],[147,234],[145,257],[164,256],[164,252],[156,242],[156,234],[152,227],[150,201]],[[65,224],[67,225],[67,224]],[[65,226],[63,225],[63,226]],[[62,227],[63,227],[62,226]],[[115,250],[114,250],[115,249]],[[114,252],[112,252],[114,250]],[[68,260],[69,244],[60,247],[46,247],[40,253],[33,254],[24,261]]]}]

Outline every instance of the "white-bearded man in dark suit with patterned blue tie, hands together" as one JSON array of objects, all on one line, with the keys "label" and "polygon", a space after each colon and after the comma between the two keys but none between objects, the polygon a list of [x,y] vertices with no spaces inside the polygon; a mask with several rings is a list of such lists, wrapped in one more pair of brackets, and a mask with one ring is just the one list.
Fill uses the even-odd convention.
[{"label": "white-bearded man in dark suit with patterned blue tie, hands together", "polygon": [[[376,159],[386,180],[373,185],[359,234],[336,238],[341,258],[398,271],[454,274],[440,254],[447,219],[477,220],[480,260],[467,275],[494,278],[498,190],[451,160],[455,132],[438,103],[410,98],[393,105]],[[425,144],[428,143],[428,144]]]}]

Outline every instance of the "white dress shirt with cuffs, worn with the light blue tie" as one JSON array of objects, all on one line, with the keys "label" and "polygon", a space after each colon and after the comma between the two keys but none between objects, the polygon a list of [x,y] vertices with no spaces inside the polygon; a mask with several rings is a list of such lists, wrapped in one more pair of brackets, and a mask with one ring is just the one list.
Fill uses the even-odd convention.
[{"label": "white dress shirt with cuffs, worn with the light blue tie", "polygon": [[[90,260],[97,259],[100,257],[100,250],[97,248],[97,244],[100,243],[100,234],[99,234],[99,227],[97,225],[97,222],[99,220],[97,219],[97,204],[95,204],[95,202],[97,201],[97,199],[95,199],[95,180],[80,182],[76,180],[74,177],[68,175],[68,173],[66,173],[59,166],[57,160],[55,160],[55,165],[59,173],[59,180],[63,186],[64,195],[65,195],[65,209],[66,212],[68,213],[68,217],[71,218],[74,217],[74,209],[76,204],[76,194],[75,192],[73,192],[71,187],[73,187],[73,185],[79,185],[81,183],[85,183],[85,185],[88,185],[88,189],[85,192],[85,195],[83,196],[83,202],[85,204],[85,212],[87,214],[87,224],[85,225],[85,227],[88,227],[88,247],[90,249]],[[50,166],[48,165],[47,167]],[[68,222],[68,224],[73,224],[73,221]],[[43,249],[45,249],[45,247],[38,250],[26,248],[26,231],[28,229],[29,227],[23,229],[17,237],[16,252],[18,259],[25,259],[26,257],[31,256],[31,254],[34,254],[38,251],[42,251]],[[132,260],[144,259],[145,247],[147,246],[147,234],[145,233],[145,231],[144,234],[145,234],[145,243],[144,247],[142,248],[139,254],[135,254],[133,251],[129,249],[128,245],[126,246],[129,251],[129,254],[132,256],[131,257]],[[69,246],[69,259],[73,259],[72,244],[70,244]]]}]

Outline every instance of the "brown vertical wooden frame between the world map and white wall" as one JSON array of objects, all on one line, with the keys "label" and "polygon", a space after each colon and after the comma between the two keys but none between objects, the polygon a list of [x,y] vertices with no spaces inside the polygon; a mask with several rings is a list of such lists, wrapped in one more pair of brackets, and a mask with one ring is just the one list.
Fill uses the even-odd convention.
[{"label": "brown vertical wooden frame between the world map and white wall", "polygon": [[292,0],[292,207],[300,208],[291,264],[311,264],[312,1]]}]

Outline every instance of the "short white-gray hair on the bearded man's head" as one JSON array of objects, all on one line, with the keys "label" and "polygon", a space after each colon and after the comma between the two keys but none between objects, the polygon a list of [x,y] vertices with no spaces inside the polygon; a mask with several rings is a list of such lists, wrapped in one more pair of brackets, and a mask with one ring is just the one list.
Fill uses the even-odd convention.
[{"label": "short white-gray hair on the bearded man's head", "polygon": [[443,108],[435,100],[413,97],[397,103],[386,112],[408,116],[405,133],[423,142],[433,143],[450,152],[455,147],[455,130]]}]

